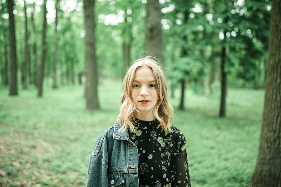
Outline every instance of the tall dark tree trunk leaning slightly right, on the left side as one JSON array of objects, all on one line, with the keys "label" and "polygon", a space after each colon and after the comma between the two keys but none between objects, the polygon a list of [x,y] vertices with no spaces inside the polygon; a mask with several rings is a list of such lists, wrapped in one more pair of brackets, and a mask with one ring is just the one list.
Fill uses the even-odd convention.
[{"label": "tall dark tree trunk leaning slightly right, on the left side", "polygon": [[45,57],[46,57],[46,27],[47,27],[47,8],[46,1],[44,0],[44,15],[43,15],[43,30],[42,30],[42,53],[41,53],[41,65],[40,65],[40,74],[38,81],[38,98],[42,97],[43,92],[43,80],[44,80],[44,69],[45,69]]}]

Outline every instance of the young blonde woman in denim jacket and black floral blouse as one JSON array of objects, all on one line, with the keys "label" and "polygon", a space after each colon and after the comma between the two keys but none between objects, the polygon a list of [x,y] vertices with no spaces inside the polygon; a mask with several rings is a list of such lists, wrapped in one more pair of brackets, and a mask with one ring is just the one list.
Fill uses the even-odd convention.
[{"label": "young blonde woman in denim jacket and black floral blouse", "polygon": [[96,140],[88,187],[189,187],[185,137],[171,125],[165,76],[144,57],[127,71],[120,114]]}]

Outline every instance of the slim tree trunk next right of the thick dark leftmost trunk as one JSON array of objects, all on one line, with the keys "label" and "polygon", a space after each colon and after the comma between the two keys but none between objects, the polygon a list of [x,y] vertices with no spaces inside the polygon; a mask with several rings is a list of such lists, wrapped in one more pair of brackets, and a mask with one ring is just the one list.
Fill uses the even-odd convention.
[{"label": "slim tree trunk next right of the thick dark leftmost trunk", "polygon": [[25,49],[24,49],[24,57],[25,60],[23,62],[23,89],[27,89],[27,60],[28,60],[28,30],[27,30],[27,13],[26,13],[26,3],[23,1],[24,4],[24,15],[25,15]]}]

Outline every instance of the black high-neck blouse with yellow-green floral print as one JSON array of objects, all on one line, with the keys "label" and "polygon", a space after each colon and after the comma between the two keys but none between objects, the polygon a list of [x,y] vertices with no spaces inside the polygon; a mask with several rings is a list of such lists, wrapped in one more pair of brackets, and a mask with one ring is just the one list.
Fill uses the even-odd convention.
[{"label": "black high-neck blouse with yellow-green floral print", "polygon": [[136,132],[129,131],[139,153],[140,187],[190,187],[184,135],[174,126],[161,132],[158,124],[137,119]]}]

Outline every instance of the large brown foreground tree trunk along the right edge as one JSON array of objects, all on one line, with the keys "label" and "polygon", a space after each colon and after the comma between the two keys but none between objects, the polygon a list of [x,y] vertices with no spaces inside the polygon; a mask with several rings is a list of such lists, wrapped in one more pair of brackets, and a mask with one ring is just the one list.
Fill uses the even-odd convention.
[{"label": "large brown foreground tree trunk along the right edge", "polygon": [[264,113],[253,187],[281,187],[281,1],[273,0]]}]

